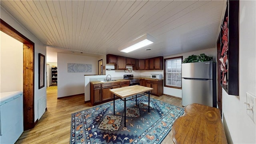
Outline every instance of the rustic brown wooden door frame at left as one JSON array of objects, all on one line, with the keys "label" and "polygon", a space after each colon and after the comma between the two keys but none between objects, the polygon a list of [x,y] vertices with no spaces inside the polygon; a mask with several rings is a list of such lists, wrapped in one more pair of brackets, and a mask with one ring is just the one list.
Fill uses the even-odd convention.
[{"label": "rustic brown wooden door frame at left", "polygon": [[34,47],[35,44],[12,26],[0,19],[0,30],[23,43],[23,126],[34,128]]}]

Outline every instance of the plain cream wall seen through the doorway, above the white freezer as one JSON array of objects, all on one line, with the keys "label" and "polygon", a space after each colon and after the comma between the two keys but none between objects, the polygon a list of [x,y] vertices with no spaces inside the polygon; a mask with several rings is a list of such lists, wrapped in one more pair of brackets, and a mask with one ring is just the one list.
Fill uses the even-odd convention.
[{"label": "plain cream wall seen through the doorway, above the white freezer", "polygon": [[23,44],[1,33],[0,92],[23,91]]}]

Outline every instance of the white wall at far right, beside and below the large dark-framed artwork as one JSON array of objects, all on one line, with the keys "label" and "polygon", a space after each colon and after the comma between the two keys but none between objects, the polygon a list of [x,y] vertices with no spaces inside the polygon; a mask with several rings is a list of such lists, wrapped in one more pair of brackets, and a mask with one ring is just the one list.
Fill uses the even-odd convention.
[{"label": "white wall at far right, beside and below the large dark-framed artwork", "polygon": [[223,124],[229,144],[256,144],[256,124],[244,104],[246,92],[256,95],[256,1],[240,0],[239,13],[239,96],[222,89]]}]

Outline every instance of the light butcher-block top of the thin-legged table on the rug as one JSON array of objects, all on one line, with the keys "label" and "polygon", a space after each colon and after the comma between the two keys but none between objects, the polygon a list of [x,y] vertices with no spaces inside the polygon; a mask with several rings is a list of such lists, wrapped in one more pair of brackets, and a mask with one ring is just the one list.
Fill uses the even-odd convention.
[{"label": "light butcher-block top of the thin-legged table on the rug", "polygon": [[120,98],[127,98],[129,96],[134,96],[136,94],[140,94],[143,92],[148,92],[150,90],[153,90],[153,88],[149,88],[146,86],[140,86],[140,85],[134,85],[134,86],[126,86],[122,88],[114,88],[110,89],[112,93],[114,93],[116,96]]}]

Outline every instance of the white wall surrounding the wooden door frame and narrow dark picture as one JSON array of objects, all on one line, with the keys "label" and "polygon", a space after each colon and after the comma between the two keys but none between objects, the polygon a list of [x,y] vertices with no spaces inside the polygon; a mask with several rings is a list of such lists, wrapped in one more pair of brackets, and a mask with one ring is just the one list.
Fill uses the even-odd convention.
[{"label": "white wall surrounding the wooden door frame and narrow dark picture", "polygon": [[[35,121],[38,118],[37,112],[37,100],[40,98],[46,99],[46,75],[45,75],[45,86],[38,90],[38,53],[46,55],[46,47],[42,42],[40,42],[36,37],[34,37],[26,28],[24,28],[16,19],[14,19],[2,6],[0,8],[0,17],[2,20],[7,22],[10,26],[16,29],[18,32],[26,36],[26,38],[30,39],[35,43],[34,48],[34,111],[35,111]],[[45,68],[46,73],[46,68]],[[2,74],[2,72],[1,72]],[[2,86],[2,85],[1,85]],[[46,107],[46,105],[45,105]]]}]

